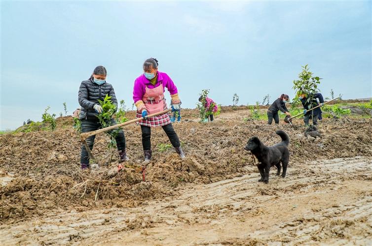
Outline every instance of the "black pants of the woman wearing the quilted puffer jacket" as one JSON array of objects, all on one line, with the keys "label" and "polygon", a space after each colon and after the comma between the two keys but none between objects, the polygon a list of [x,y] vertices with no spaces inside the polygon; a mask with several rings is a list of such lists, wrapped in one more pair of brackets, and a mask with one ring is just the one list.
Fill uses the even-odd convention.
[{"label": "black pants of the woman wearing the quilted puffer jacket", "polygon": [[[114,119],[111,119],[111,125],[116,124],[116,121]],[[99,128],[102,128],[102,125],[100,122],[97,121],[92,121],[92,120],[82,120],[81,121],[81,132],[88,132],[88,131],[94,131]],[[110,131],[109,131],[110,133]],[[94,139],[96,136],[90,136],[88,137],[85,141],[89,147],[89,149],[93,149],[94,145]],[[123,129],[119,128],[119,132],[116,135],[116,147],[118,151],[123,151],[125,150],[125,136]],[[85,148],[85,145],[81,145],[81,155],[80,155],[80,163],[83,164],[89,164],[89,154],[88,151]]]}]

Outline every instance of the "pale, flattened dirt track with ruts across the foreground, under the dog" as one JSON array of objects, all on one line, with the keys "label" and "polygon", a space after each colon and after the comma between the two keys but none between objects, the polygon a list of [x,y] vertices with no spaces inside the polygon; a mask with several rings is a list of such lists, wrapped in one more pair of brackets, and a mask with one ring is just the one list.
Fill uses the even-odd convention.
[{"label": "pale, flattened dirt track with ruts across the foreground, under the dog", "polygon": [[[256,167],[247,168],[255,170]],[[372,158],[289,167],[285,179],[258,172],[137,208],[65,213],[3,224],[1,245],[367,244],[372,242]],[[76,208],[79,211],[79,208]]]}]

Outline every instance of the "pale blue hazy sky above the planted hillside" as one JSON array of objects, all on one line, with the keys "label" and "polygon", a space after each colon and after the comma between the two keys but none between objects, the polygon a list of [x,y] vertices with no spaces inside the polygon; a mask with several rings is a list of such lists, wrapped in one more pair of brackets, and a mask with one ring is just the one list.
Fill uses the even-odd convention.
[{"label": "pale blue hazy sky above the planted hillside", "polygon": [[[372,96],[371,1],[0,2],[0,130],[79,108],[81,81],[97,65],[131,108],[134,80],[154,57],[195,108],[210,89],[218,104],[293,98],[308,64],[320,90]],[[169,102],[169,93],[166,92]],[[64,114],[64,113],[63,113]]]}]

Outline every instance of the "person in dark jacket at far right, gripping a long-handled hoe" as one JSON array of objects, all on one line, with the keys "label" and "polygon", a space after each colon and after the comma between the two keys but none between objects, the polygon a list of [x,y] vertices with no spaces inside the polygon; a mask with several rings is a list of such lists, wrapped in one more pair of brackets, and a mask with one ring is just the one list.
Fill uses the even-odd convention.
[{"label": "person in dark jacket at far right, gripping a long-handled hoe", "polygon": [[306,112],[307,110],[313,108],[313,107],[316,107],[319,105],[318,101],[316,99],[319,99],[319,102],[320,102],[320,106],[323,106],[324,104],[324,99],[323,99],[323,95],[321,93],[315,93],[312,97],[315,99],[315,100],[312,100],[312,101],[307,101],[307,98],[310,97],[310,96],[306,96],[305,93],[303,92],[298,92],[298,98],[301,100],[301,103],[302,103],[302,106],[303,106],[303,122],[305,123],[306,126],[309,125],[309,119],[312,118],[312,121],[313,121],[313,124],[316,125],[318,123],[318,118],[319,118],[319,115],[321,115],[322,113],[322,110],[320,109],[320,107],[314,109],[314,110],[311,110],[309,112]]}]

